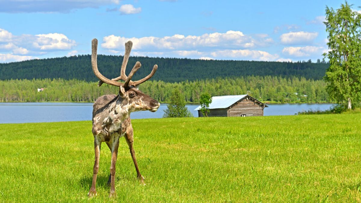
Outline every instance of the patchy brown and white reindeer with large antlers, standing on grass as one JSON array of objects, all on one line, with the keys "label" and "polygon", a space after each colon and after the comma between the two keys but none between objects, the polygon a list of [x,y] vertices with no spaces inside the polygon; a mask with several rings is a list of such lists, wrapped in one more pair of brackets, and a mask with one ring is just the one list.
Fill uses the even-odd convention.
[{"label": "patchy brown and white reindeer with large antlers, standing on grass", "polygon": [[[99,156],[100,146],[102,142],[108,145],[112,153],[112,162],[110,165],[110,175],[108,185],[110,185],[110,197],[115,196],[115,171],[116,161],[119,147],[119,138],[125,138],[132,156],[135,170],[137,173],[138,180],[141,184],[145,185],[144,177],[140,174],[138,164],[135,158],[135,151],[133,148],[133,128],[130,122],[130,113],[134,111],[146,111],[156,112],[160,106],[160,103],[150,96],[144,94],[138,90],[138,85],[147,81],[156,72],[158,66],[154,65],[152,72],[145,78],[138,81],[131,81],[134,73],[140,68],[141,64],[137,61],[129,73],[128,76],[125,74],[126,65],[128,63],[130,51],[132,48],[132,42],[128,41],[125,43],[125,55],[120,71],[120,76],[114,79],[108,79],[104,77],[98,70],[97,67],[97,46],[98,40],[92,40],[92,56],[91,63],[93,72],[97,78],[99,78],[98,86],[101,86],[104,82],[109,85],[119,87],[118,95],[104,95],[99,97],[93,104],[93,128],[92,132],[94,135],[94,150],[95,150],[95,161],[93,168],[93,180],[89,190],[88,196],[96,195],[96,176],[99,170]],[[118,82],[119,79],[124,80],[124,83]]]}]

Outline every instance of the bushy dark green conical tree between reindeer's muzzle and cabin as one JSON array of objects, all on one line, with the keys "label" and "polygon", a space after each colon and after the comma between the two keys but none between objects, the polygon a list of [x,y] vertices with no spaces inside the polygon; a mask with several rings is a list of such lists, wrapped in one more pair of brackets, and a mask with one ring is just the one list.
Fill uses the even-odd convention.
[{"label": "bushy dark green conical tree between reindeer's muzzle and cabin", "polygon": [[165,118],[192,117],[192,113],[186,107],[186,100],[179,89],[175,88],[170,96],[170,103],[164,110]]}]

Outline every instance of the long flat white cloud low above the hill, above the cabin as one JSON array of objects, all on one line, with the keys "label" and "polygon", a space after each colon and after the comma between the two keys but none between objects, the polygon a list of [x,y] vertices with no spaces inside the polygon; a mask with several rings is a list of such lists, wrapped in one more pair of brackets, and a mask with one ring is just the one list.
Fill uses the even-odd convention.
[{"label": "long flat white cloud low above the hill, above the cabin", "polygon": [[234,59],[248,59],[257,61],[274,61],[279,56],[277,54],[270,54],[265,51],[257,50],[222,50],[210,53],[213,57],[226,57]]}]

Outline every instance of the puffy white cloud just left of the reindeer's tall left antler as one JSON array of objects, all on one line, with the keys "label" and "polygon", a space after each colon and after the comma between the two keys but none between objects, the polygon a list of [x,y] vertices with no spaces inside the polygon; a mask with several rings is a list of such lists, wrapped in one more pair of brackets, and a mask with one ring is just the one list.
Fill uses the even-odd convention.
[{"label": "puffy white cloud just left of the reindeer's tall left antler", "polygon": [[33,45],[40,50],[51,50],[51,49],[71,49],[75,46],[75,41],[68,39],[64,34],[49,33],[36,35],[38,38]]}]

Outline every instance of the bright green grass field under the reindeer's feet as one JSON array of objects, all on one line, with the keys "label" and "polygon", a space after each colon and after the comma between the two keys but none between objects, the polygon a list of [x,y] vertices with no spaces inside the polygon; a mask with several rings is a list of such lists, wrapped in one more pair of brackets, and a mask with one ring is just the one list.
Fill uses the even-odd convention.
[{"label": "bright green grass field under the reindeer's feet", "polygon": [[133,120],[139,185],[124,138],[117,198],[100,155],[88,199],[91,121],[0,125],[0,202],[360,202],[361,114]]}]

